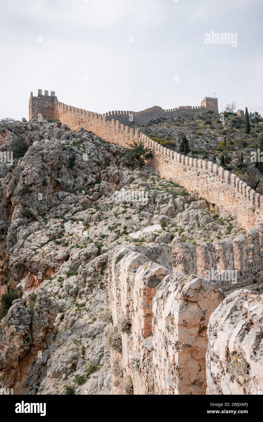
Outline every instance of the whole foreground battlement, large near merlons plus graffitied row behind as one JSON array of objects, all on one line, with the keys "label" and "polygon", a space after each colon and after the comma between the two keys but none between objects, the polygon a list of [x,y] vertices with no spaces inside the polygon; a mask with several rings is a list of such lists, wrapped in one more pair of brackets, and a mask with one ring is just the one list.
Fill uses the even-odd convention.
[{"label": "whole foreground battlement, large near merlons plus graffitied row behind", "polygon": [[[259,227],[233,242],[227,239],[200,242],[197,246],[178,242],[172,251],[165,243],[150,243],[142,247],[117,246],[110,253],[109,307],[121,345],[118,349],[111,348],[112,394],[125,394],[129,380],[134,395],[201,395],[206,394],[207,381],[208,391],[215,389],[215,394],[222,394],[222,390],[249,394],[243,387],[252,392],[260,379],[262,384],[260,343],[250,341],[251,330],[255,339],[260,332],[258,319],[262,325],[262,296],[243,290],[249,288],[253,274],[262,271],[262,239],[263,228]],[[178,256],[183,258],[180,264]],[[214,272],[232,269],[239,273],[238,281],[224,278],[218,281],[213,277]],[[208,274],[212,277],[207,277]],[[254,289],[255,285],[250,288]],[[249,306],[244,304],[236,315],[240,307],[238,298],[244,294],[250,298]],[[220,315],[222,306],[225,314]],[[216,325],[224,325],[226,318],[229,327],[216,330]],[[123,330],[123,319],[128,322],[129,330]],[[236,330],[233,322],[235,327],[238,325]],[[242,343],[244,335],[248,336],[246,348]],[[209,342],[214,349],[207,347]],[[227,347],[228,344],[231,346]],[[235,359],[229,357],[233,344]],[[240,372],[236,371],[244,357],[250,362],[249,349],[253,357],[258,354],[256,362],[260,362],[258,367],[246,366],[245,376],[251,379],[250,383],[243,376],[238,377]],[[244,357],[240,358],[242,353]],[[226,356],[231,365],[226,365]],[[224,371],[220,371],[221,365]],[[216,372],[215,368],[218,368]],[[224,384],[217,382],[218,374]],[[229,382],[234,376],[239,384]]]}]

